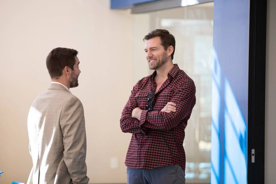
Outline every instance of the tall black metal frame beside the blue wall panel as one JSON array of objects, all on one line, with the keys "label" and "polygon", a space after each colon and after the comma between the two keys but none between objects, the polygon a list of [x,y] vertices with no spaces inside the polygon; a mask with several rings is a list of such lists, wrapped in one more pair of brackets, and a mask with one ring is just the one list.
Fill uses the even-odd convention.
[{"label": "tall black metal frame beside the blue wall panel", "polygon": [[[266,14],[267,0],[250,0],[247,137],[247,183],[249,184],[265,181]],[[252,149],[255,151],[254,154]]]}]

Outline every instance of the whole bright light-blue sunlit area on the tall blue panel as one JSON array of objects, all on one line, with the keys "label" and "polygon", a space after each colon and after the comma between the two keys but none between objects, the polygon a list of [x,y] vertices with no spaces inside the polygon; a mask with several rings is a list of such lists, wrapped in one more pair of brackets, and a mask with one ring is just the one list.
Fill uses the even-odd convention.
[{"label": "whole bright light-blue sunlit area on the tall blue panel", "polygon": [[211,183],[247,183],[247,124],[215,51],[212,87]]}]

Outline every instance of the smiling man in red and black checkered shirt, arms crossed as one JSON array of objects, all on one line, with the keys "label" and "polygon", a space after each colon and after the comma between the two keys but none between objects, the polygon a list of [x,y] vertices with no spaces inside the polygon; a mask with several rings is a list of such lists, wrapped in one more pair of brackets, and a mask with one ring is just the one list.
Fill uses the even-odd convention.
[{"label": "smiling man in red and black checkered shirt, arms crossed", "polygon": [[120,119],[132,133],[126,154],[128,184],[185,183],[183,140],[195,105],[193,80],[173,64],[175,39],[155,29],[144,39],[150,76],[133,87]]}]

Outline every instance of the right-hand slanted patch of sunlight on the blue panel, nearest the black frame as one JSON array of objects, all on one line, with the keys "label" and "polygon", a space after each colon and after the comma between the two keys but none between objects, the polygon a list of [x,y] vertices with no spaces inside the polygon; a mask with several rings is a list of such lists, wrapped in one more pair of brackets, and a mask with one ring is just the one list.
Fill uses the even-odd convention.
[{"label": "right-hand slanted patch of sunlight on the blue panel, nearest the black frame", "polygon": [[247,183],[247,125],[242,116],[235,95],[225,79],[225,176],[224,183]]}]

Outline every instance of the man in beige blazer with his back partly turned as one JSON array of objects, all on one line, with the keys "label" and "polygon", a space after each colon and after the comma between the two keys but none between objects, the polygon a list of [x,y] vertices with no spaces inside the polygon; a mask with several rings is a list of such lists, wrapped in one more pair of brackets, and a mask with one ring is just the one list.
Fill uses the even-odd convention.
[{"label": "man in beige blazer with his back partly turned", "polygon": [[81,101],[69,88],[77,87],[78,51],[55,48],[46,59],[51,77],[47,91],[29,110],[29,150],[33,167],[27,183],[88,183],[86,132]]}]

